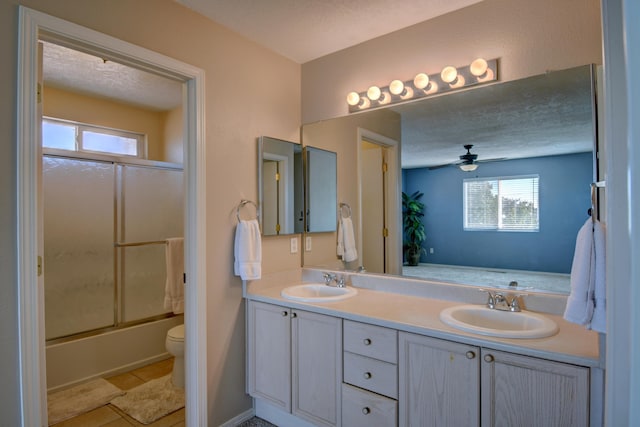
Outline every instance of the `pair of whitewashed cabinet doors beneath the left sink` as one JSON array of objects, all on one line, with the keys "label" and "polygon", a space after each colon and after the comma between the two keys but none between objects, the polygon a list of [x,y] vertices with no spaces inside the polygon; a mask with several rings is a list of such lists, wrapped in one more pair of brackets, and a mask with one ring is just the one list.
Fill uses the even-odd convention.
[{"label": "pair of whitewashed cabinet doors beneath the left sink", "polygon": [[315,425],[341,423],[342,319],[248,302],[248,393]]}]

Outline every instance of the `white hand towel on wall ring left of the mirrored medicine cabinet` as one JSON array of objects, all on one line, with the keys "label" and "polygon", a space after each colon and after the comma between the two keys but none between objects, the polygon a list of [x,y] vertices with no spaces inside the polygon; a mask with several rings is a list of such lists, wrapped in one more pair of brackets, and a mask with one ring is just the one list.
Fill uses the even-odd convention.
[{"label": "white hand towel on wall ring left of the mirrored medicine cabinet", "polygon": [[236,227],[233,270],[242,280],[257,280],[262,273],[260,224],[255,219],[241,220]]}]

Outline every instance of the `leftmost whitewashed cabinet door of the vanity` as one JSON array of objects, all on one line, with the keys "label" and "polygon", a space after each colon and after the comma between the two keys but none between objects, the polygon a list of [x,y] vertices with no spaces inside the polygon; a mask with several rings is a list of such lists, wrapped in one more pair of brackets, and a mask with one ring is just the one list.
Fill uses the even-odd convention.
[{"label": "leftmost whitewashed cabinet door of the vanity", "polygon": [[291,411],[291,311],[248,302],[248,393]]}]

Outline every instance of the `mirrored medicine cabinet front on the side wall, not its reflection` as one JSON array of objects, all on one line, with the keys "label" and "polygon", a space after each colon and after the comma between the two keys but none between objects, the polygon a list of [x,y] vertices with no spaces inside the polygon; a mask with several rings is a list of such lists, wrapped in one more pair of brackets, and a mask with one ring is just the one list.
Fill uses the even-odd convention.
[{"label": "mirrored medicine cabinet front on the side wall, not its reflection", "polygon": [[261,136],[258,140],[258,188],[262,234],[302,233],[304,192],[302,147]]}]

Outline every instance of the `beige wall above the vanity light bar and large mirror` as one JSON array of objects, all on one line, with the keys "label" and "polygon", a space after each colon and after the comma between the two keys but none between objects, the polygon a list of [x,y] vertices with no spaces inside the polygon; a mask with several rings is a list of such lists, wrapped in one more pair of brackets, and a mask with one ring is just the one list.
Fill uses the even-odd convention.
[{"label": "beige wall above the vanity light bar and large mirror", "polygon": [[[356,25],[361,25],[357,23]],[[302,66],[302,122],[346,115],[346,96],[477,57],[508,81],[602,63],[598,0],[484,0]]]}]

